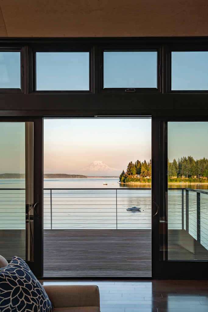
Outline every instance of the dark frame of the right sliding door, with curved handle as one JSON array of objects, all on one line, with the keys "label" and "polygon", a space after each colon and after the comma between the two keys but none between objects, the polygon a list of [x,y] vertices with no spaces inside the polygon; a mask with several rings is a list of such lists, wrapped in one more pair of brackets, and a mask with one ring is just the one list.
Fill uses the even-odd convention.
[{"label": "dark frame of the right sliding door, with curved handle", "polygon": [[[153,116],[152,117],[152,194],[160,209],[152,217],[152,277],[159,279],[207,279],[207,261],[160,260],[160,219],[165,210],[167,192],[167,121],[208,121],[208,116]],[[156,206],[152,203],[152,216]],[[167,230],[167,229],[166,229]]]}]

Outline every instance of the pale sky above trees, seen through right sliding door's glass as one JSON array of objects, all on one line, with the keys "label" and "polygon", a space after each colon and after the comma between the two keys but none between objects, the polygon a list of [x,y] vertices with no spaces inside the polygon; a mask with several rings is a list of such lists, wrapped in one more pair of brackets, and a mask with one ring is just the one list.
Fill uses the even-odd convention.
[{"label": "pale sky above trees, seen through right sliding door's glass", "polygon": [[168,158],[208,158],[208,122],[168,122]]}]

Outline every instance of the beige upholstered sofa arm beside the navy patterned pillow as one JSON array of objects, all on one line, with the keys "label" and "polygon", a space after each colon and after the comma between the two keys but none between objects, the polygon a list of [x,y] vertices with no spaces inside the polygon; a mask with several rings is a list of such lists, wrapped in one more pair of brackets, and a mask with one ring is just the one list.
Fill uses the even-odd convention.
[{"label": "beige upholstered sofa arm beside the navy patterned pillow", "polygon": [[54,308],[100,307],[99,288],[96,285],[43,286]]}]

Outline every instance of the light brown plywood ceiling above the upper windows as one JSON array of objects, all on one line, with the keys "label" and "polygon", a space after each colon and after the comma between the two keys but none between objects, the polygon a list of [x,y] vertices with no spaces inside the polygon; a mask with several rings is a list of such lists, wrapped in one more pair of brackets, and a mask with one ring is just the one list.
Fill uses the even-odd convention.
[{"label": "light brown plywood ceiling above the upper windows", "polygon": [[0,37],[208,36],[208,0],[0,0]]}]

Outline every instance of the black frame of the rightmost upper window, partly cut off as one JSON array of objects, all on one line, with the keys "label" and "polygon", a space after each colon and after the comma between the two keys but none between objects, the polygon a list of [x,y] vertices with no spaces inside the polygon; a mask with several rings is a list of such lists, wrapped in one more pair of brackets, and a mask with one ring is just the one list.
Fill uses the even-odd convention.
[{"label": "black frame of the rightmost upper window, partly cut off", "polygon": [[168,85],[168,93],[208,93],[208,90],[172,90],[172,52],[200,52],[206,51],[208,52],[208,44],[200,44],[200,45],[181,45],[175,44],[170,45],[167,53],[167,85]]}]

